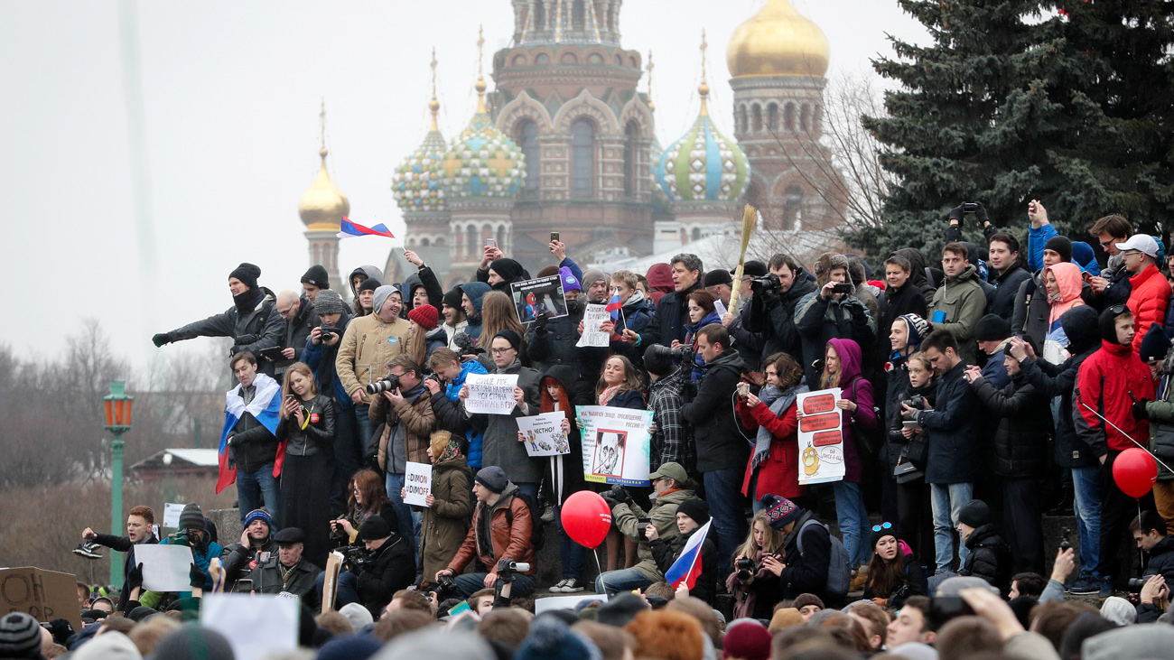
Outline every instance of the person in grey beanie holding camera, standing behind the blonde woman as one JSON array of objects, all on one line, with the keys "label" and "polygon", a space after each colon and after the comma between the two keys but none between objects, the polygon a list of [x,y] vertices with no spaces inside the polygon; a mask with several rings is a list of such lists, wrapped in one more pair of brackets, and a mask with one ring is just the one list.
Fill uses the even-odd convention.
[{"label": "person in grey beanie holding camera, standing behind the blonde woman", "polygon": [[335,361],[338,345],[351,322],[351,314],[338,291],[323,289],[315,296],[313,309],[322,325],[310,329],[310,336],[302,351],[302,359],[313,370],[313,382],[318,391],[335,403],[335,471],[330,483],[330,511],[346,511],[346,484],[363,467],[365,438],[359,438],[355,419],[355,402],[338,376]]}]

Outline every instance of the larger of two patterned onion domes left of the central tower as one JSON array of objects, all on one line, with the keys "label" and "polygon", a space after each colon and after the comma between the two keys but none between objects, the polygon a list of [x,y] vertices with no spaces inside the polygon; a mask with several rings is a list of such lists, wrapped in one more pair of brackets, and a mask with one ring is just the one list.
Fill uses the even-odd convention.
[{"label": "larger of two patterned onion domes left of the central tower", "polygon": [[485,82],[477,85],[477,114],[448,144],[440,163],[440,186],[450,200],[512,198],[526,180],[526,161],[518,144],[493,126],[485,109]]}]

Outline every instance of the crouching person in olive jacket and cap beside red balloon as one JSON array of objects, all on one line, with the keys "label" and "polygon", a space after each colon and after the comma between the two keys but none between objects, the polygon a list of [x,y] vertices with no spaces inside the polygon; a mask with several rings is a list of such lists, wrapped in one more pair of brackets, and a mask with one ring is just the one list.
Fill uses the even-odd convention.
[{"label": "crouching person in olive jacket and cap beside red balloon", "polygon": [[[676,526],[676,510],[687,499],[696,498],[689,487],[689,476],[677,463],[666,463],[660,470],[648,476],[653,483],[652,506],[645,513],[623,486],[613,486],[601,493],[603,501],[612,509],[612,524],[625,537],[636,541],[636,557],[640,561],[632,568],[606,571],[595,578],[595,593],[608,595],[632,590],[643,590],[653,582],[664,581],[664,572],[656,565],[650,545],[652,538],[663,543],[675,543],[680,532]],[[649,527],[656,533],[649,538]]]}]

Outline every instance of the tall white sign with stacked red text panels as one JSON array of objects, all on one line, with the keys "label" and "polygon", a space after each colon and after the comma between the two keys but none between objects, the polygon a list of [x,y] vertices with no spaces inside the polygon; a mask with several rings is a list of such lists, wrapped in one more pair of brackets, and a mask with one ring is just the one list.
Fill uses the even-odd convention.
[{"label": "tall white sign with stacked red text panels", "polygon": [[803,392],[795,402],[799,418],[799,484],[825,484],[844,478],[843,415],[836,408],[842,390]]}]

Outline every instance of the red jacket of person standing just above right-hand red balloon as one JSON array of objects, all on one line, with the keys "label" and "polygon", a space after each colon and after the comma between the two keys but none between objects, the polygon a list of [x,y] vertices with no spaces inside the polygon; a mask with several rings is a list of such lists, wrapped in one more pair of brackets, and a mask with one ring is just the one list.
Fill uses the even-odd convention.
[{"label": "red jacket of person standing just above right-hand red balloon", "polygon": [[1074,392],[1080,411],[1077,433],[1097,456],[1138,446],[1097,417],[1088,405],[1142,445],[1149,442],[1149,422],[1133,418],[1133,402],[1154,398],[1154,379],[1133,346],[1101,341],[1101,349],[1080,365]]}]

